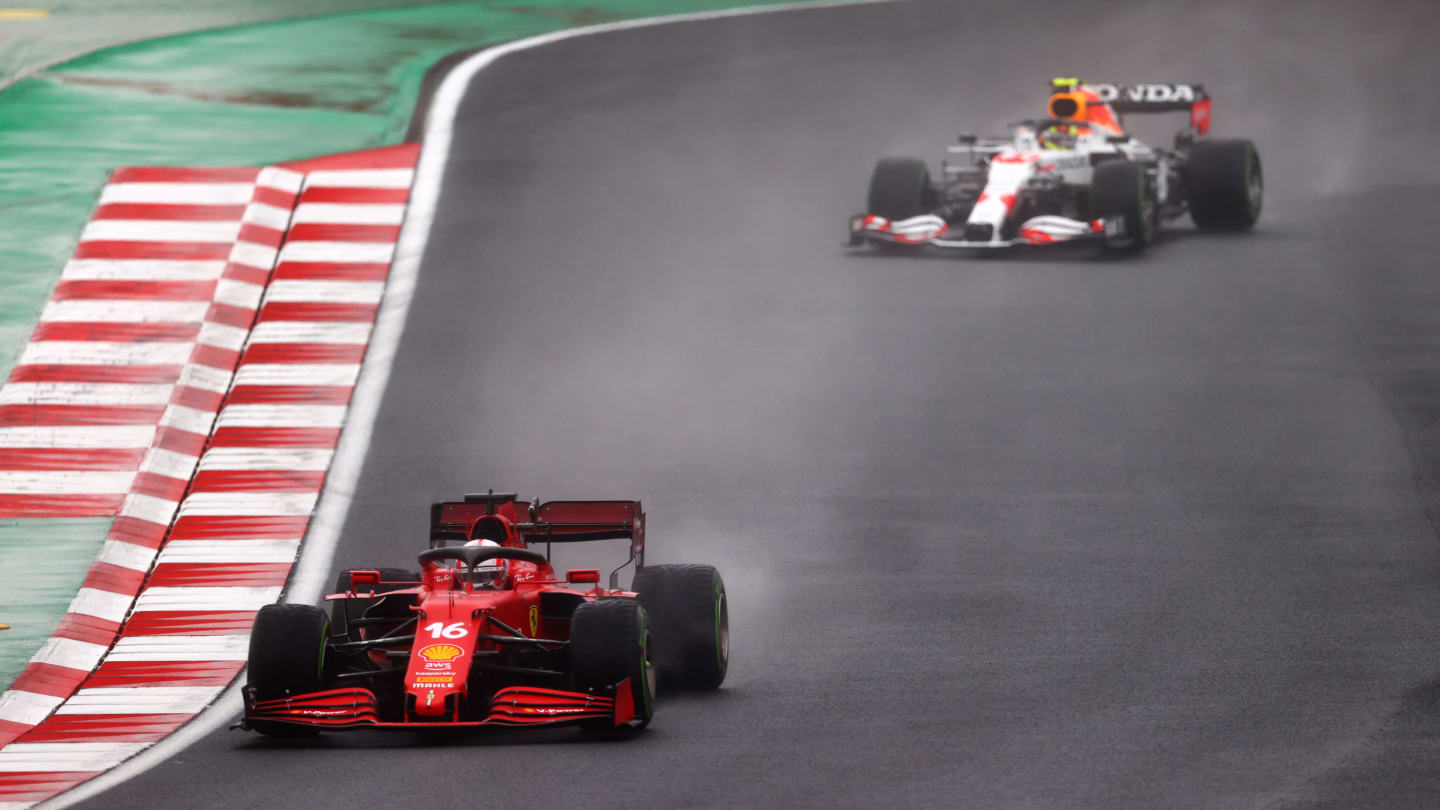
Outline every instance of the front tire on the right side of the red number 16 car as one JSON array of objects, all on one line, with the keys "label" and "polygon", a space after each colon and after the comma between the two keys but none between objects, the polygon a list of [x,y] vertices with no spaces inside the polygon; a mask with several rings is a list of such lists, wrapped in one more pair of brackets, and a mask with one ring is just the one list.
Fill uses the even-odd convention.
[{"label": "front tire on the right side of the red number 16 car", "polygon": [[[585,602],[570,617],[570,679],[579,692],[600,692],[629,679],[635,700],[631,728],[645,728],[655,715],[655,666],[645,608],[638,600]],[[609,721],[586,724],[613,728]]]}]

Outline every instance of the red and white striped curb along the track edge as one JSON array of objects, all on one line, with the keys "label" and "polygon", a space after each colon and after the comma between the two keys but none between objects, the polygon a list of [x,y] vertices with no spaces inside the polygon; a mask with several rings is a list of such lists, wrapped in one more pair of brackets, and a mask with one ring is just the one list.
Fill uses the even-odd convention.
[{"label": "red and white striped curb along the track edge", "polygon": [[[163,399],[164,408],[145,411],[153,414],[150,425],[124,425],[145,437],[140,453],[118,444],[120,438],[91,438],[109,434],[69,440],[69,448],[86,453],[128,450],[131,455],[99,457],[111,458],[112,466],[130,460],[135,468],[107,468],[102,471],[117,473],[117,479],[96,479],[117,487],[122,476],[131,476],[115,526],[71,614],[12,690],[0,696],[0,735],[12,738],[0,747],[0,810],[56,796],[147,748],[209,705],[243,667],[255,611],[275,601],[285,585],[338,441],[418,153],[418,146],[403,146],[264,170],[222,170],[235,172],[226,183],[206,183],[196,174],[184,182],[215,186],[204,192],[213,196],[187,189],[184,200],[151,190],[112,193],[117,186],[138,184],[124,172],[107,187],[112,197],[125,193],[115,202],[128,208],[108,209],[111,203],[102,197],[66,274],[82,265],[89,270],[76,272],[107,272],[105,281],[150,284],[170,295],[141,298],[141,290],[125,293],[130,288],[121,287],[111,303],[128,295],[125,307],[115,303],[104,311],[81,311],[95,316],[84,323],[118,321],[111,313],[132,313],[120,321],[131,326],[115,331],[107,326],[91,334],[112,336],[107,340],[117,347],[107,356],[127,357],[125,368],[171,366],[173,389]],[[233,180],[242,172],[252,174],[243,210],[235,200],[246,182]],[[219,186],[236,187],[223,196]],[[117,216],[102,216],[108,213]],[[226,218],[219,219],[222,215]],[[95,251],[96,244],[118,251],[108,245],[125,235],[134,241],[160,233],[176,239],[164,242],[170,258],[109,252],[109,265],[82,264],[89,257],[81,254]],[[207,281],[212,287],[199,308],[204,319],[184,333],[176,324],[190,321],[147,316],[174,317],[180,304],[200,300],[196,280],[180,277],[200,275],[200,265],[174,264],[219,261],[197,258],[212,255],[204,251],[213,251],[209,245],[215,244],[196,241],[200,236],[228,238],[229,261],[210,268],[219,278]],[[184,258],[174,258],[180,255]],[[261,261],[266,257],[268,264]],[[121,261],[147,264],[112,267]],[[50,307],[69,300],[60,298],[62,290],[69,293],[68,282],[62,280]],[[60,311],[50,307],[37,336],[56,320],[49,316]],[[160,344],[166,337],[190,336],[184,344],[192,350],[181,356],[150,346],[135,349],[150,334],[163,336],[154,340]],[[53,356],[71,357],[72,366],[98,365],[75,360],[89,357],[91,350],[75,347]],[[114,368],[115,362],[107,363],[105,373]],[[157,376],[135,379],[143,373]],[[75,391],[95,401],[94,406],[140,408],[144,404],[131,399],[164,393],[143,388],[166,385],[151,379],[163,378],[130,370],[104,380],[92,375],[85,378],[88,388]],[[101,382],[132,388],[95,388]],[[37,389],[22,391],[39,396]],[[124,405],[114,405],[115,398],[127,396],[131,399]],[[0,427],[0,437],[6,430]],[[124,441],[138,441],[124,435]],[[68,457],[89,458],[82,453],[56,458]],[[101,493],[72,484],[65,493],[46,494]],[[98,500],[76,503],[102,509]]]}]

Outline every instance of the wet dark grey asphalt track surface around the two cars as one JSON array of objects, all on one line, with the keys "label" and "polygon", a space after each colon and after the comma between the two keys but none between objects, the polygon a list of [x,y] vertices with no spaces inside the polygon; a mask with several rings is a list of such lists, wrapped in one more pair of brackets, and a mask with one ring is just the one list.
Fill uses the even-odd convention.
[{"label": "wet dark grey asphalt track surface around the two cars", "polygon": [[[585,37],[461,108],[337,568],[465,490],[642,497],[652,562],[726,575],[720,693],[628,741],[220,732],[88,806],[1434,804],[1440,12],[958,6]],[[840,248],[874,159],[1060,74],[1205,82],[1261,228]]]}]

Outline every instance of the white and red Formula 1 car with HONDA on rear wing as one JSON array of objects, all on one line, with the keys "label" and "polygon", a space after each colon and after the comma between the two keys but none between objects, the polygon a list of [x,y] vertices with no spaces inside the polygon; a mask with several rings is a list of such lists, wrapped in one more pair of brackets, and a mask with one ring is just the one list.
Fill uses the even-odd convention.
[{"label": "white and red Formula 1 car with HONDA on rear wing", "polygon": [[[1188,111],[1169,150],[1126,133],[1126,112]],[[1187,212],[1202,231],[1244,231],[1260,218],[1264,183],[1248,140],[1210,138],[1200,85],[1054,79],[1048,118],[1012,124],[1009,138],[960,135],[933,182],[924,161],[887,157],[870,177],[867,212],[850,244],[881,248],[1008,248],[1093,239],[1139,252],[1162,222]]]}]

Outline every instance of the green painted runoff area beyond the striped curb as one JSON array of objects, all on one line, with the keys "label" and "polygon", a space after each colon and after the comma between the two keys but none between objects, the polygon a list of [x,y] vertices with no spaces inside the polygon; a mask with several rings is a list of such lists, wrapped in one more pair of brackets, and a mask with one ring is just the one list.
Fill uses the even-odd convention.
[{"label": "green painted runoff area beyond the striped curb", "polygon": [[[343,3],[361,4],[236,6],[261,19]],[[757,3],[510,0],[328,14],[108,48],[10,84],[0,91],[0,379],[117,166],[259,166],[396,144],[425,71],[448,53],[579,25],[747,4]],[[105,14],[69,25],[135,25],[127,9],[153,12],[154,3],[104,6]],[[199,0],[190,13],[219,7]],[[56,33],[24,58],[0,61],[0,81],[24,74],[26,59],[43,63],[102,36]],[[0,624],[12,627],[0,630],[0,685],[49,637],[109,523],[0,520]]]}]

